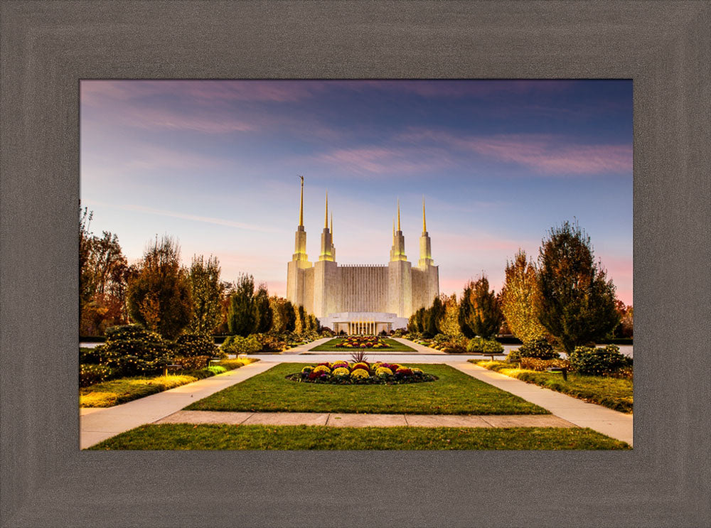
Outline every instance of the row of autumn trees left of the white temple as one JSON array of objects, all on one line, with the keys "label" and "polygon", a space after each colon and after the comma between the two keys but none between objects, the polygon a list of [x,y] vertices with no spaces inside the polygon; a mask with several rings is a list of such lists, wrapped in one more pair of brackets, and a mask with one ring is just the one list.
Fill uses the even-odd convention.
[{"label": "row of autumn trees left of the white temple", "polygon": [[319,330],[319,321],[303,306],[269,296],[265,284],[255,287],[253,276],[222,281],[217,257],[195,255],[183,266],[173,237],[156,237],[129,266],[117,235],[94,235],[91,220],[92,212],[80,211],[80,335],[104,335],[107,328],[130,322],[167,339],[183,332],[246,337]]}]

